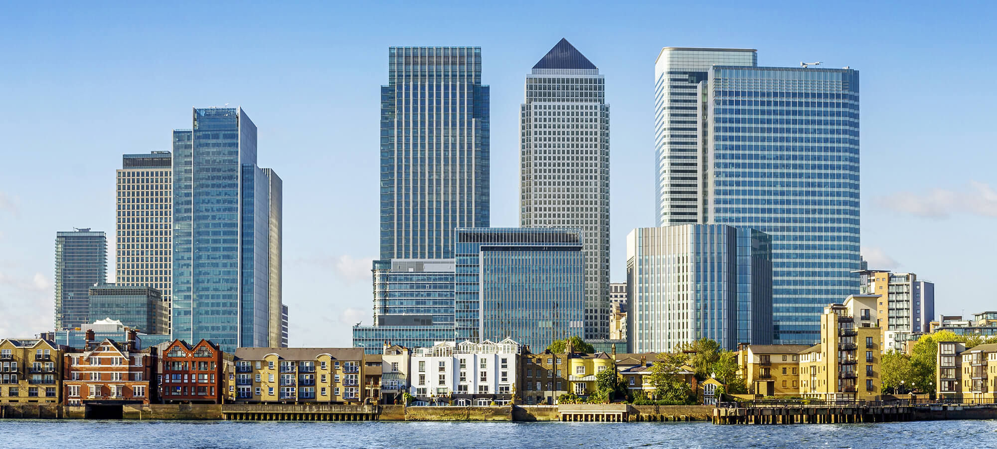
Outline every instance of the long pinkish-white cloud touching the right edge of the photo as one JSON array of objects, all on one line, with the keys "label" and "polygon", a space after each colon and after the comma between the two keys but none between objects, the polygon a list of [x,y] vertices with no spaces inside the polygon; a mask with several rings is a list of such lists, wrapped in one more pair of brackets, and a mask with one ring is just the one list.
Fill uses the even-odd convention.
[{"label": "long pinkish-white cloud touching the right edge of the photo", "polygon": [[933,189],[926,194],[897,192],[878,197],[874,202],[885,209],[930,219],[946,219],[953,214],[997,218],[997,192],[978,181],[970,181],[960,191]]}]

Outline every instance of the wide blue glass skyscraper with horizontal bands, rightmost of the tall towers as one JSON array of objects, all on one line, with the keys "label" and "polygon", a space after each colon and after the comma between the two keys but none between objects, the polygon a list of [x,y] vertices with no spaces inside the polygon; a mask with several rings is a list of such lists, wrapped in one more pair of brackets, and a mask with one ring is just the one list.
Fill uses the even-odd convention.
[{"label": "wide blue glass skyscraper with horizontal bands, rightmost of the tall towers", "polygon": [[706,221],[772,234],[776,343],[821,339],[858,291],[858,72],[716,66]]}]

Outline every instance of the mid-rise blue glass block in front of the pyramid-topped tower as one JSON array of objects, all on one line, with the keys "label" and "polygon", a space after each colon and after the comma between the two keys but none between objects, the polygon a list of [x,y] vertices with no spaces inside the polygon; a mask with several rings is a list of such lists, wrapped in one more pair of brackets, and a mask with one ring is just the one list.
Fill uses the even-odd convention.
[{"label": "mid-rise blue glass block in front of the pyramid-topped tower", "polygon": [[583,241],[580,228],[458,228],[457,338],[543,348],[580,334]]}]

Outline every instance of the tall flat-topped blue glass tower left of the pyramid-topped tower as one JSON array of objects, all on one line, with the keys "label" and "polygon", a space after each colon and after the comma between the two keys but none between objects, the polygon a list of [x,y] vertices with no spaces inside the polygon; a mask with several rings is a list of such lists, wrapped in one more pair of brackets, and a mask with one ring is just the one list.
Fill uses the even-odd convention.
[{"label": "tall flat-topped blue glass tower left of the pyramid-topped tower", "polygon": [[453,258],[489,225],[489,86],[480,47],[391,47],[381,86],[381,259]]}]

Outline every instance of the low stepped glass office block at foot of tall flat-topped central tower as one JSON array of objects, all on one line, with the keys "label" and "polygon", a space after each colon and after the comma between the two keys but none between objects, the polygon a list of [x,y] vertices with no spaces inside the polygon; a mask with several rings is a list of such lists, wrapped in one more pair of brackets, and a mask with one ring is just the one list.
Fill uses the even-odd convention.
[{"label": "low stepped glass office block at foot of tall flat-topped central tower", "polygon": [[453,258],[374,260],[374,324],[353,326],[353,345],[430,347],[455,338]]}]

